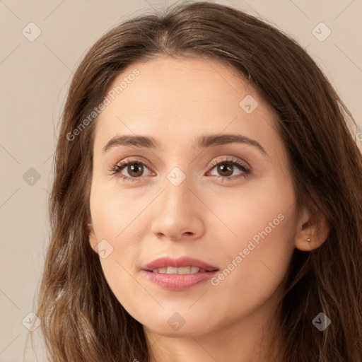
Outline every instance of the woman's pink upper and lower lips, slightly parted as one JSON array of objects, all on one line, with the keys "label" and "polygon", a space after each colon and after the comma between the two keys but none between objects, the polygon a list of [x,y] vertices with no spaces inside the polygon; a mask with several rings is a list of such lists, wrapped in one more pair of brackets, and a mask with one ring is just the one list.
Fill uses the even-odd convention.
[{"label": "woman's pink upper and lower lips, slightly parted", "polygon": [[[153,273],[153,269],[164,268],[164,267],[198,267],[205,271],[194,273],[194,274],[163,274]],[[185,291],[186,289],[197,286],[198,284],[209,281],[216,273],[218,268],[213,267],[206,262],[202,262],[199,259],[192,257],[180,257],[173,259],[171,257],[160,257],[153,260],[143,267],[142,273],[153,284],[156,284],[160,288],[168,289],[170,291]]]}]

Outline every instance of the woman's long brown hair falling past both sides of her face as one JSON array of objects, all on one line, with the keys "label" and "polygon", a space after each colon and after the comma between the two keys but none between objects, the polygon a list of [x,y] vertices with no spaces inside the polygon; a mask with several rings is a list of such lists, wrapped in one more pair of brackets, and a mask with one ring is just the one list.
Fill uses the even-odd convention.
[{"label": "woman's long brown hair falling past both sides of her face", "polygon": [[[321,247],[293,254],[277,332],[286,343],[283,361],[361,361],[362,156],[352,136],[356,122],[300,45],[253,16],[206,1],[118,25],[91,47],[74,74],[54,157],[52,235],[36,313],[49,358],[148,361],[143,326],[115,298],[88,243],[97,119],[79,125],[119,72],[159,55],[230,64],[274,110],[298,206],[317,209],[331,225]],[[321,312],[332,321],[324,332],[312,323]]]}]

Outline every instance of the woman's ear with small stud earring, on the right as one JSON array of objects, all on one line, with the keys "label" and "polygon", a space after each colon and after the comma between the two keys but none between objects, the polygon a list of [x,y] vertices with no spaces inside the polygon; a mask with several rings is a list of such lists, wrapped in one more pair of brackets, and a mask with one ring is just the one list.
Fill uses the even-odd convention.
[{"label": "woman's ear with small stud earring, on the right", "polygon": [[317,209],[314,213],[303,209],[296,230],[296,248],[302,251],[317,249],[327,240],[330,229],[329,222]]}]

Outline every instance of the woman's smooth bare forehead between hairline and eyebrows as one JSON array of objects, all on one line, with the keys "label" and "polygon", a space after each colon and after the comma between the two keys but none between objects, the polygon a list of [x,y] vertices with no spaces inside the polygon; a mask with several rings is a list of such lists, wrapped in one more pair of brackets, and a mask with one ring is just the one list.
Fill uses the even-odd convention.
[{"label": "woman's smooth bare forehead between hairline and eyebrows", "polygon": [[[172,146],[222,132],[263,138],[274,128],[272,111],[257,91],[214,59],[160,57],[131,64],[106,96],[110,103],[96,122],[98,147],[116,134],[147,134]],[[245,102],[255,109],[245,112]]]}]

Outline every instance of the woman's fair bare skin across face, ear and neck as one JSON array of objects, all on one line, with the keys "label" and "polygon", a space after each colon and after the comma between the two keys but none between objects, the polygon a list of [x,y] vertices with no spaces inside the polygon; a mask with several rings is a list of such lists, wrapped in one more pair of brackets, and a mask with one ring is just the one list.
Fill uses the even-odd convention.
[{"label": "woman's fair bare skin across face, ear and neck", "polygon": [[[320,246],[329,229],[320,219],[317,234],[308,210],[296,208],[272,110],[235,70],[211,59],[138,62],[109,89],[134,69],[139,76],[105,107],[95,128],[89,241],[93,249],[104,239],[113,247],[100,258],[110,288],[144,325],[151,362],[281,361],[267,349],[291,255],[295,247]],[[239,105],[246,95],[258,103],[250,114]],[[267,155],[250,144],[192,148],[199,136],[226,133],[256,140]],[[117,146],[103,153],[107,141],[125,134],[152,136],[160,149]],[[233,165],[229,175],[210,167],[230,156],[247,163],[252,174],[245,177]],[[144,163],[138,181],[112,174],[126,158]],[[186,177],[177,187],[167,178],[175,167]],[[122,175],[132,177],[132,170],[126,166]],[[225,175],[230,180],[222,181]],[[195,257],[223,270],[280,214],[284,220],[217,286],[168,291],[141,273],[167,255]],[[168,325],[174,313],[185,320],[177,331]]]}]

